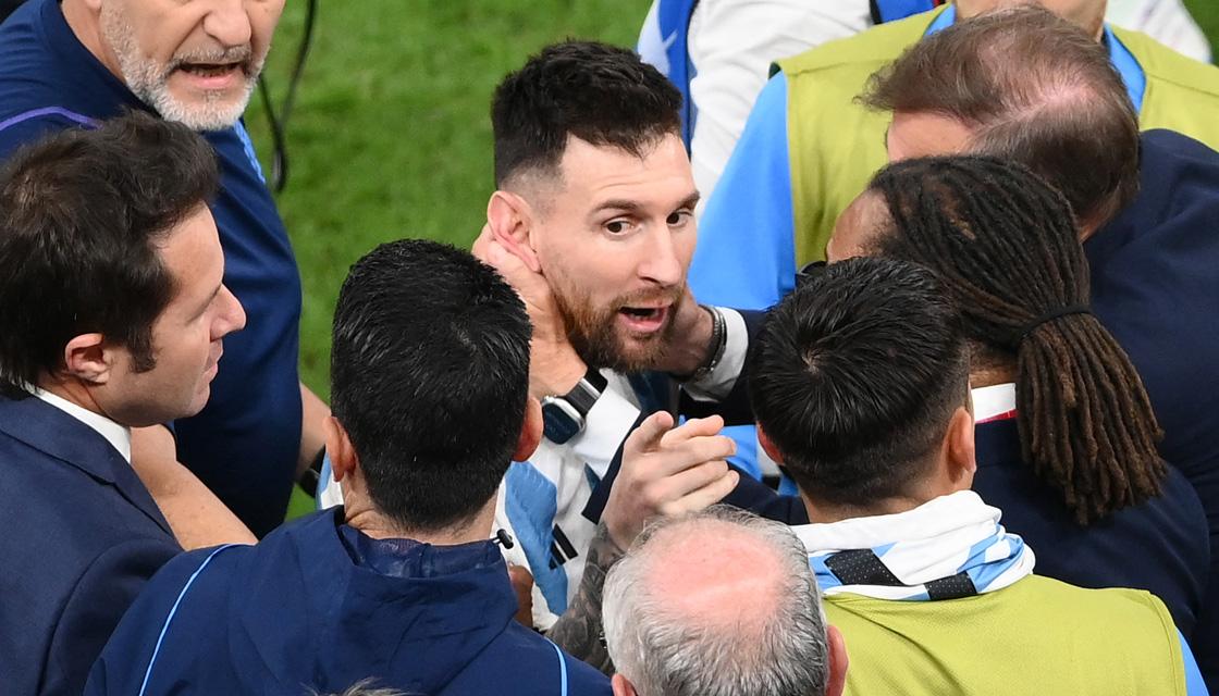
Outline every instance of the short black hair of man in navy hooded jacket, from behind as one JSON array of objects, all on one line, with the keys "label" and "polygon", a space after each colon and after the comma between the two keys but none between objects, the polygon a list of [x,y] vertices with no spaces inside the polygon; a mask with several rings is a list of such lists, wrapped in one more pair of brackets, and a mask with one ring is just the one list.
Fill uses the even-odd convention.
[{"label": "short black hair of man in navy hooded jacket, from behind", "polygon": [[334,314],[334,416],[377,508],[436,531],[495,495],[524,422],[530,325],[517,294],[464,251],[383,244]]}]

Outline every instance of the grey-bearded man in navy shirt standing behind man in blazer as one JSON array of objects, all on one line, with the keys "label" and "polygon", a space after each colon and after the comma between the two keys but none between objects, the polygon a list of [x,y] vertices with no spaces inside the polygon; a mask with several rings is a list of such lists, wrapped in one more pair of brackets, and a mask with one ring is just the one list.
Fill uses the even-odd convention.
[{"label": "grey-bearded man in navy shirt standing behind man in blazer", "polygon": [[[262,535],[324,445],[328,410],[297,377],[300,274],[241,124],[283,0],[30,0],[0,28],[0,158],[44,134],[126,110],[204,132],[221,163],[212,212],[224,283],[249,313],[226,346],[207,407],[135,433],[134,466],[187,547],[247,540],[197,481],[185,508],[158,495],[197,474]],[[201,497],[210,501],[200,502]],[[179,512],[182,514],[179,514]],[[219,533],[217,530],[219,529]],[[234,531],[229,534],[228,531]]]}]

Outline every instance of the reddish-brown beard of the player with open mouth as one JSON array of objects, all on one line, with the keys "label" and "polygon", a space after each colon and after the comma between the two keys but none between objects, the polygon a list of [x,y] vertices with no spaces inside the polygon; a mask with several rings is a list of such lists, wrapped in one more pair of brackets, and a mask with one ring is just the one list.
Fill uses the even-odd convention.
[{"label": "reddish-brown beard of the player with open mouth", "polygon": [[[641,339],[636,344],[636,350],[628,351],[623,341],[619,340],[617,328],[618,310],[630,306],[631,296],[619,299],[611,307],[595,308],[588,295],[581,297],[568,297],[562,293],[555,293],[555,306],[567,327],[567,340],[570,341],[575,353],[580,356],[591,368],[610,368],[624,374],[635,374],[653,369],[662,362],[662,358],[673,340],[674,317],[678,304],[683,295],[674,295],[674,302],[666,316],[664,325],[661,330]],[[651,299],[656,297],[652,293]]]}]

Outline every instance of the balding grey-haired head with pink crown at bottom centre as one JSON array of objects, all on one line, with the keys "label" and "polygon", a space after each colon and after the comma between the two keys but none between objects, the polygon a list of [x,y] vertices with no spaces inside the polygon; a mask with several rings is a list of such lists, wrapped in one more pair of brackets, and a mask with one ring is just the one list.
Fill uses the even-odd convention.
[{"label": "balding grey-haired head with pink crown at bottom centre", "polygon": [[808,555],[728,507],[659,519],[606,579],[606,644],[640,696],[822,696],[830,655]]}]

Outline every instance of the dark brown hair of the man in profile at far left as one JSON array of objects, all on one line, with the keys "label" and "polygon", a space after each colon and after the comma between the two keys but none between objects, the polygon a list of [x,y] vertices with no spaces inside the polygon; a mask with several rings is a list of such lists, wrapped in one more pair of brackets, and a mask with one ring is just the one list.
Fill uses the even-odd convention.
[{"label": "dark brown hair of the man in profile at far left", "polygon": [[202,138],[143,112],[13,155],[0,172],[0,391],[26,395],[88,333],[151,369],[152,324],[174,294],[158,245],[218,180]]}]

